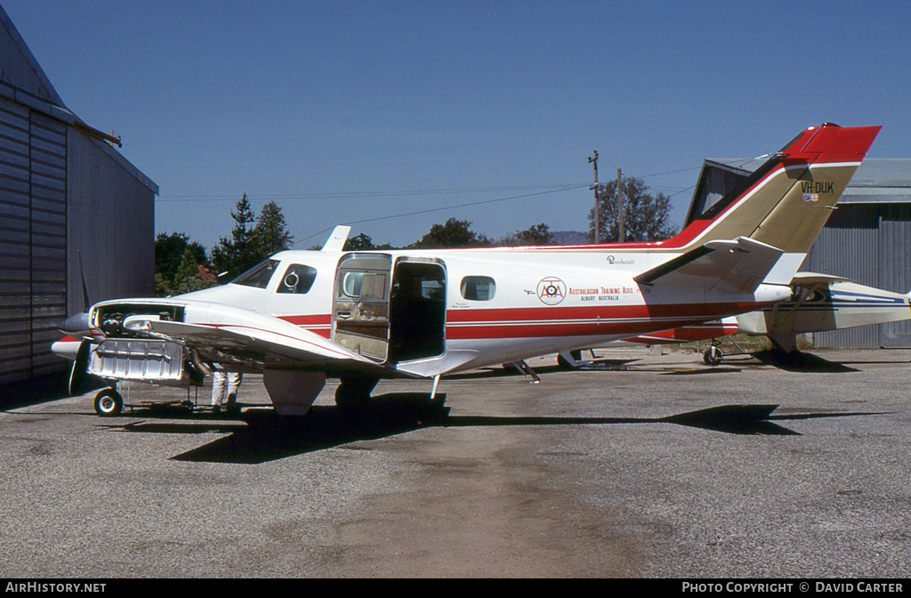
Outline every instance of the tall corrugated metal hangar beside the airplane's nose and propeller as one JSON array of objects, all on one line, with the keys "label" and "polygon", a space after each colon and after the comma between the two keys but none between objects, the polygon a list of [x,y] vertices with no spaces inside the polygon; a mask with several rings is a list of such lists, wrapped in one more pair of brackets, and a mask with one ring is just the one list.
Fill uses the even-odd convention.
[{"label": "tall corrugated metal hangar beside the airplane's nose and propeller", "polygon": [[[0,386],[67,368],[56,325],[154,293],[159,188],[64,105],[0,7]],[[80,268],[80,262],[82,267]]]}]

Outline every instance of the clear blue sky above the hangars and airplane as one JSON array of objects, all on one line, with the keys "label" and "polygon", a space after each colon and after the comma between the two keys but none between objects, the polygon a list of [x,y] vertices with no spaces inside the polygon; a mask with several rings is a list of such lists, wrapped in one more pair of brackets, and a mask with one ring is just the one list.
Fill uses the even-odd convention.
[{"label": "clear blue sky above the hangars and airplane", "polygon": [[870,156],[911,157],[909,3],[0,4],[67,107],[159,184],[157,230],[207,248],[245,192],[299,248],[357,221],[405,244],[453,216],[587,230],[595,149],[601,180],[644,178],[678,224],[701,160],[824,121],[883,125]]}]

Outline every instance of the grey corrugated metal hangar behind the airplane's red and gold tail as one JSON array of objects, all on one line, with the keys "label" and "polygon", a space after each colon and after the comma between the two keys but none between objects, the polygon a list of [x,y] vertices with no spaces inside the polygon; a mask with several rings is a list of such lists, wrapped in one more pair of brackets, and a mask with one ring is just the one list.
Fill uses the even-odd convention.
[{"label": "grey corrugated metal hangar behind the airplane's red and gold tail", "polygon": [[[746,179],[764,160],[705,160],[687,221]],[[894,293],[911,291],[911,160],[864,160],[838,200],[804,272],[844,276]],[[911,322],[815,333],[816,347],[911,346]]]}]

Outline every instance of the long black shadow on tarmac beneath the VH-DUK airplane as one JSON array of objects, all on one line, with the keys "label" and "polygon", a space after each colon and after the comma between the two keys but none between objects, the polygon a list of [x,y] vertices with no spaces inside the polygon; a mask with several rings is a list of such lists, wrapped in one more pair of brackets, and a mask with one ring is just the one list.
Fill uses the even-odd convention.
[{"label": "long black shadow on tarmac beneath the VH-DUK airplane", "polygon": [[670,423],[728,434],[800,436],[799,433],[783,428],[774,421],[875,415],[825,413],[773,416],[777,405],[731,405],[666,418],[451,416],[449,407],[445,407],[440,398],[438,395],[435,401],[431,401],[425,393],[391,393],[374,397],[370,405],[357,412],[346,412],[337,407],[315,406],[303,418],[279,418],[271,410],[263,409],[246,411],[237,421],[207,421],[205,418],[189,415],[189,421],[146,420],[109,428],[146,434],[224,433],[228,436],[171,459],[258,464],[362,440],[388,438],[422,428]]}]

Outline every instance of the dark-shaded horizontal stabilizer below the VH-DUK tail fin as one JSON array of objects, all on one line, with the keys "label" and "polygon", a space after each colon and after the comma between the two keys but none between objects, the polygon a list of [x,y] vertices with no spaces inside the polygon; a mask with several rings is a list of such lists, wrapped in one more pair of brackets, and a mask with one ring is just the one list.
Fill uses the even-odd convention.
[{"label": "dark-shaded horizontal stabilizer below the VH-DUK tail fin", "polygon": [[634,280],[640,284],[752,294],[781,255],[781,250],[746,237],[710,241]]}]

